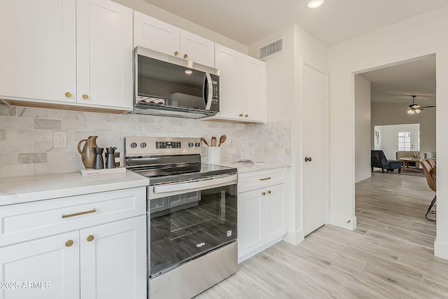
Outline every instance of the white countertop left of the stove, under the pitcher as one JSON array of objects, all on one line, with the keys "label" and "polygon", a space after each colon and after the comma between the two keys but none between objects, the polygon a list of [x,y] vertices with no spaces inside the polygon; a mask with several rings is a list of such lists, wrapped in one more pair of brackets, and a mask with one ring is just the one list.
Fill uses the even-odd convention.
[{"label": "white countertop left of the stove, under the pitcher", "polygon": [[0,179],[0,206],[52,198],[148,186],[149,179],[134,172],[82,176],[78,172]]}]

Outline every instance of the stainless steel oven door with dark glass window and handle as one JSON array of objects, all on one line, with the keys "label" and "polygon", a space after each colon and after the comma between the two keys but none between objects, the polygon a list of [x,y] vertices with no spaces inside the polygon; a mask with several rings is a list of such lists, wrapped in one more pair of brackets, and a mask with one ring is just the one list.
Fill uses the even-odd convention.
[{"label": "stainless steel oven door with dark glass window and handle", "polygon": [[237,240],[237,174],[148,187],[150,279]]}]

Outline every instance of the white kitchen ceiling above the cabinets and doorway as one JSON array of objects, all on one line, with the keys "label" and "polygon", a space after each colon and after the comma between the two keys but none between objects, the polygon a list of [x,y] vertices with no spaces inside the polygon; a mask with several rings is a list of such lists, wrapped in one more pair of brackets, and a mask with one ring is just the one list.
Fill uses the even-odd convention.
[{"label": "white kitchen ceiling above the cabinets and doorway", "polygon": [[244,45],[295,22],[327,46],[447,6],[447,0],[144,0]]}]

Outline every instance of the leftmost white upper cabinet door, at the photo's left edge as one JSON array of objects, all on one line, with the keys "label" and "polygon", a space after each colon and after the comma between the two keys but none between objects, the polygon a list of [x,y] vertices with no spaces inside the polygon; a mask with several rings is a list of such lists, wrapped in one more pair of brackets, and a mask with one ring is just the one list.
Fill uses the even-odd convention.
[{"label": "leftmost white upper cabinet door, at the photo's left edge", "polygon": [[0,0],[0,36],[3,99],[76,102],[75,0]]}]

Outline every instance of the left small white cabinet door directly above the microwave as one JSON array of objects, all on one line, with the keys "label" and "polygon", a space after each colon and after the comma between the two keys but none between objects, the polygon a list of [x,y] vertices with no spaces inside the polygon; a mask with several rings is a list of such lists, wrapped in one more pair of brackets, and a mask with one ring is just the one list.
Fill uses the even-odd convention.
[{"label": "left small white cabinet door directly above the microwave", "polygon": [[179,28],[134,11],[134,47],[179,57]]}]

